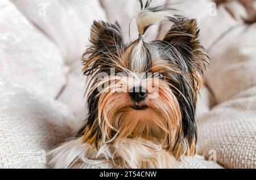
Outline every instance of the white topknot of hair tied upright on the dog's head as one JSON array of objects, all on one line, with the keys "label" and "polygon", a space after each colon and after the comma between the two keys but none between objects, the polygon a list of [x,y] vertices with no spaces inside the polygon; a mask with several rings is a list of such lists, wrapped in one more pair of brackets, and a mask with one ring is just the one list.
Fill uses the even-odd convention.
[{"label": "white topknot of hair tied upright on the dog's head", "polygon": [[144,42],[144,36],[148,28],[165,20],[178,23],[181,19],[181,16],[177,15],[177,11],[174,8],[170,8],[170,5],[167,3],[156,5],[155,2],[139,0],[141,11],[136,18],[139,35],[137,40],[131,43],[132,50],[130,54],[130,68],[136,72],[143,72],[150,66],[150,45]]}]

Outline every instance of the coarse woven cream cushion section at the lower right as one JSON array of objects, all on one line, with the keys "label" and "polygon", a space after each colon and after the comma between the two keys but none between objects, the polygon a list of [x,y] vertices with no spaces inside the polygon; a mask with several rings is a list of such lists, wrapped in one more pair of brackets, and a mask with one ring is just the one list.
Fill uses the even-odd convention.
[{"label": "coarse woven cream cushion section at the lower right", "polygon": [[256,88],[254,96],[215,106],[200,117],[197,153],[225,168],[256,168]]}]

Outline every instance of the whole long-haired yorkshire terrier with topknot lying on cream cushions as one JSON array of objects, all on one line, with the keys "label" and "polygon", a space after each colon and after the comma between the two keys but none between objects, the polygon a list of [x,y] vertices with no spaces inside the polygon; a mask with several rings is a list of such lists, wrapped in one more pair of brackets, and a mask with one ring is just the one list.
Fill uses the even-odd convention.
[{"label": "whole long-haired yorkshire terrier with topknot lying on cream cushions", "polygon": [[[177,168],[177,160],[194,155],[196,100],[208,64],[196,20],[174,15],[167,5],[139,2],[139,36],[129,44],[118,23],[93,23],[82,58],[89,117],[81,135],[49,152],[55,168],[77,159]],[[174,24],[165,37],[145,42],[148,28],[165,20]]]}]

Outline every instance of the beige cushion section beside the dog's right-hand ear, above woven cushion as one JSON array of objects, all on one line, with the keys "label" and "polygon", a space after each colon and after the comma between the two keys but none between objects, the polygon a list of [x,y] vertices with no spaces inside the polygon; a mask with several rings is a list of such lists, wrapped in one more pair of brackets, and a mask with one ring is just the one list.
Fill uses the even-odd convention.
[{"label": "beige cushion section beside the dog's right-hand ear, above woven cushion", "polygon": [[231,29],[212,49],[206,80],[216,103],[256,85],[256,24]]}]

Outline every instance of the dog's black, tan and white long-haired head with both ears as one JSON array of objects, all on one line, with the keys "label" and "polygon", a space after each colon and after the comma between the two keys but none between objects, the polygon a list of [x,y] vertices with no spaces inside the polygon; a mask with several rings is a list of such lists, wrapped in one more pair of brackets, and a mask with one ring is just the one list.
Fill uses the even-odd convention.
[{"label": "dog's black, tan and white long-haired head with both ears", "polygon": [[[89,118],[84,142],[150,140],[179,158],[193,154],[195,108],[208,62],[195,20],[179,20],[163,40],[125,44],[119,25],[94,22],[84,54]],[[88,57],[89,55],[89,57]]]}]

